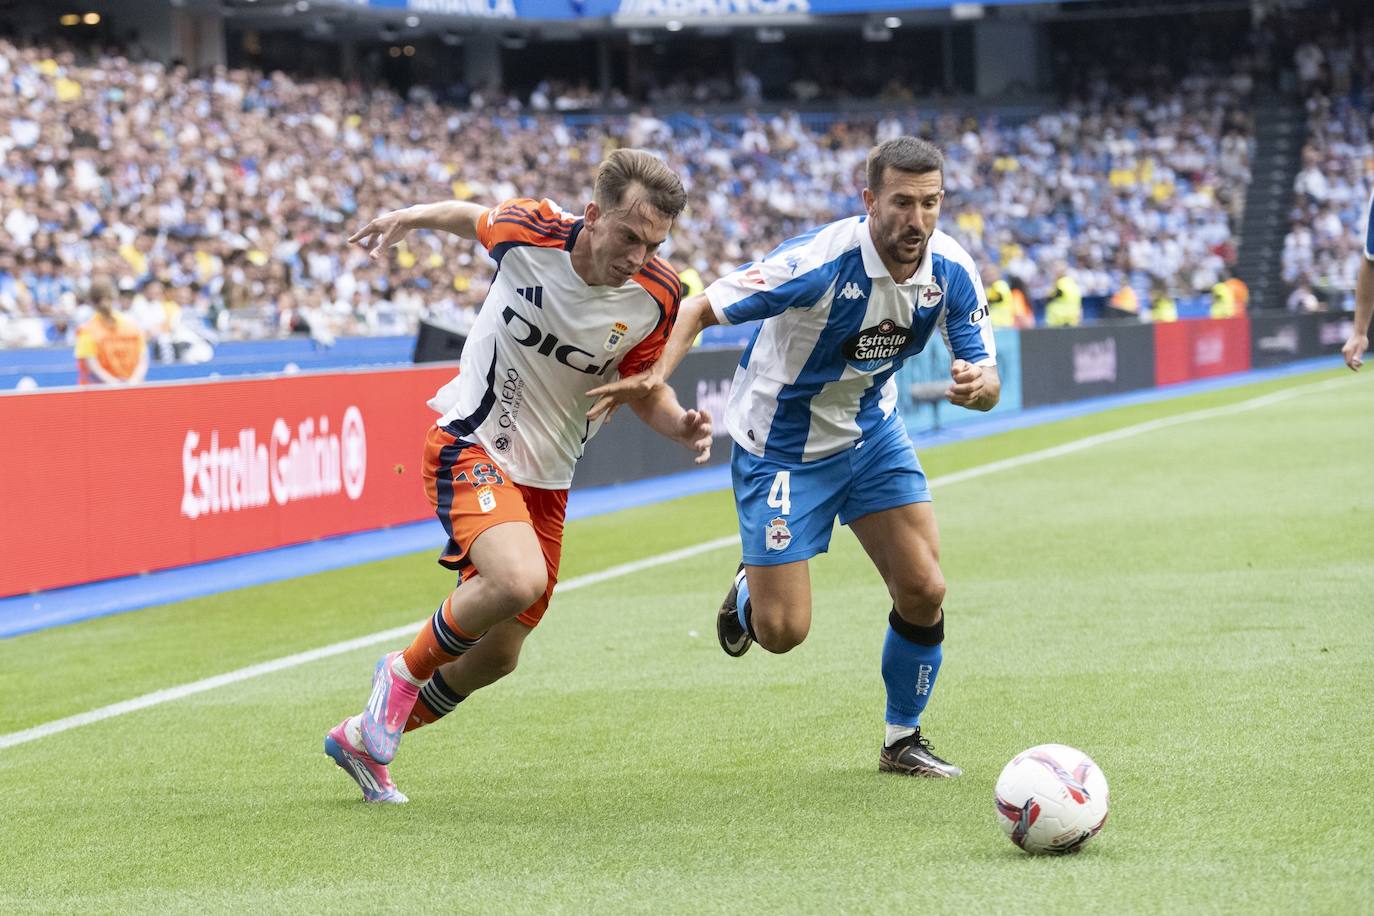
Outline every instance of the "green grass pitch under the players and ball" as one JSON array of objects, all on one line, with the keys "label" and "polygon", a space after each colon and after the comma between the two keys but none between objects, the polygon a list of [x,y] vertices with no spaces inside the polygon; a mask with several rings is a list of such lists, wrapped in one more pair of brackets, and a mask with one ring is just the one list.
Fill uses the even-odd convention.
[{"label": "green grass pitch under the players and ball", "polygon": [[[716,645],[731,549],[555,596],[515,674],[407,736],[405,806],[322,753],[382,647],[0,750],[0,912],[1371,912],[1364,375],[921,450],[949,581],[925,725],[963,779],[877,772],[889,602],[837,531],[783,656]],[[727,493],[574,522],[563,580],[732,530]],[[448,582],[423,553],[7,640],[0,733],[419,621]],[[993,818],[1041,742],[1112,786],[1079,856]]]}]

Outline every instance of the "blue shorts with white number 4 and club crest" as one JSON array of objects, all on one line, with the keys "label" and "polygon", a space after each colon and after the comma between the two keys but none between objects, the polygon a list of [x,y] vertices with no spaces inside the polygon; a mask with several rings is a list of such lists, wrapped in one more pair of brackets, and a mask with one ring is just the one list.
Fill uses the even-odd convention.
[{"label": "blue shorts with white number 4 and club crest", "polygon": [[897,415],[838,455],[774,461],[735,444],[730,456],[739,540],[749,566],[808,560],[830,549],[830,533],[882,509],[929,503],[930,488]]}]

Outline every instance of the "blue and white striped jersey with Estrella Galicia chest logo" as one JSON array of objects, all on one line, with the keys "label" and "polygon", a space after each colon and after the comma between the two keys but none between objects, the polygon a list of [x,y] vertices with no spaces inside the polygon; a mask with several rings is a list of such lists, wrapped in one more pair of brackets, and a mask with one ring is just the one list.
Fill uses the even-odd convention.
[{"label": "blue and white striped jersey with Estrella Galicia chest logo", "polygon": [[905,283],[888,273],[867,217],[778,246],[706,288],[721,324],[763,319],[735,371],[725,428],[752,455],[815,461],[896,411],[893,375],[938,327],[956,357],[996,365],[978,271],[938,229]]}]

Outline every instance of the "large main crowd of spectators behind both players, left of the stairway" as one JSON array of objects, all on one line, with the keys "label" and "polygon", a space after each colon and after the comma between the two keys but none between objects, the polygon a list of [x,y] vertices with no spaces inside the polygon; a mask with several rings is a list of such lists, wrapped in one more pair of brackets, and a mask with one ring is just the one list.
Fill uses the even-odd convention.
[{"label": "large main crowd of spectators behind both players, left of the stairway", "polygon": [[1017,122],[910,107],[592,117],[551,103],[517,115],[3,40],[0,85],[0,345],[11,346],[70,342],[96,276],[151,339],[184,325],[322,343],[407,332],[420,317],[462,327],[492,277],[475,246],[418,233],[376,264],[349,232],[455,196],[541,195],[577,210],[592,166],[622,144],[660,151],[686,179],[691,205],[666,255],[690,283],[857,211],[867,150],[904,132],[948,155],[943,227],[1035,297],[1065,273],[1085,295],[1128,283],[1142,299],[1206,291],[1234,258],[1249,179],[1243,73],[1168,92],[1102,81]]}]

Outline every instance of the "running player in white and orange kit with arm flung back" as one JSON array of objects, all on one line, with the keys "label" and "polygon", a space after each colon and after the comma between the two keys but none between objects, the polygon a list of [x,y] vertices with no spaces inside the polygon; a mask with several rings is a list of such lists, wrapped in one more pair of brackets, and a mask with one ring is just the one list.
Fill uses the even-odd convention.
[{"label": "running player in white and orange kit with arm flung back", "polygon": [[[682,284],[655,251],[684,205],[658,158],[617,150],[581,216],[551,201],[445,202],[389,213],[349,239],[381,257],[409,229],[447,231],[497,262],[459,374],[430,401],[442,416],[425,446],[425,490],[448,536],[440,563],[460,588],[408,648],[378,662],[367,709],[324,742],[367,801],[405,801],[386,768],[401,733],[514,670],[548,608],[573,467],[600,426],[587,419],[587,391],[662,353]],[[698,461],[710,456],[710,417],[671,389],[632,408]]]}]

